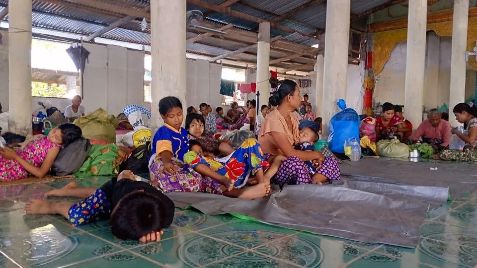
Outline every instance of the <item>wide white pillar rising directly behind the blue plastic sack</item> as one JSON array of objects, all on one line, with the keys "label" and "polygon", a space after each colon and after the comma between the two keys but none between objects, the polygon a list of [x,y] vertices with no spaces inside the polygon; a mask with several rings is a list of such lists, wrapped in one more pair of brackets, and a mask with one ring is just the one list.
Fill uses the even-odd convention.
[{"label": "wide white pillar rising directly behind the blue plastic sack", "polygon": [[338,99],[346,99],[348,86],[350,0],[326,1],[326,32],[323,69],[323,137],[336,112]]}]

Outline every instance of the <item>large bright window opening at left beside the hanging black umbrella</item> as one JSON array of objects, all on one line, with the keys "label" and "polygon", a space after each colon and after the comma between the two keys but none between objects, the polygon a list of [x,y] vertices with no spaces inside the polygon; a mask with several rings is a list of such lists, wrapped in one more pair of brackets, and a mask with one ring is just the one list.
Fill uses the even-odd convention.
[{"label": "large bright window opening at left beside the hanging black umbrella", "polygon": [[32,40],[33,97],[73,98],[80,95],[79,73],[66,52],[70,46],[69,43]]}]

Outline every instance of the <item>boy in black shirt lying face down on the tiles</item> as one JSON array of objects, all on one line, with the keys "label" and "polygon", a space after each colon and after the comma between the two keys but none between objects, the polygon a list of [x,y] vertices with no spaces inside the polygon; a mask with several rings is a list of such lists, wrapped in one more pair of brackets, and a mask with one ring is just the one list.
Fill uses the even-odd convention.
[{"label": "boy in black shirt lying face down on the tiles", "polygon": [[129,170],[98,189],[71,182],[45,194],[49,196],[85,199],[79,203],[32,200],[25,205],[25,213],[60,214],[74,226],[109,218],[113,235],[122,240],[160,241],[162,229],[169,227],[174,218],[174,203],[159,188]]}]

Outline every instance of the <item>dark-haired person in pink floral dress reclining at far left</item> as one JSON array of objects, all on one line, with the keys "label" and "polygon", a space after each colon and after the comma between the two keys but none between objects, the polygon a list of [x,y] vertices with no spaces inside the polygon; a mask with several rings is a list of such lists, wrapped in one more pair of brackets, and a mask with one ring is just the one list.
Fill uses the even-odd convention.
[{"label": "dark-haired person in pink floral dress reclining at far left", "polygon": [[62,146],[68,146],[81,137],[81,129],[63,124],[48,136],[33,139],[23,149],[0,148],[0,182],[15,181],[33,175],[44,177],[50,171]]}]

